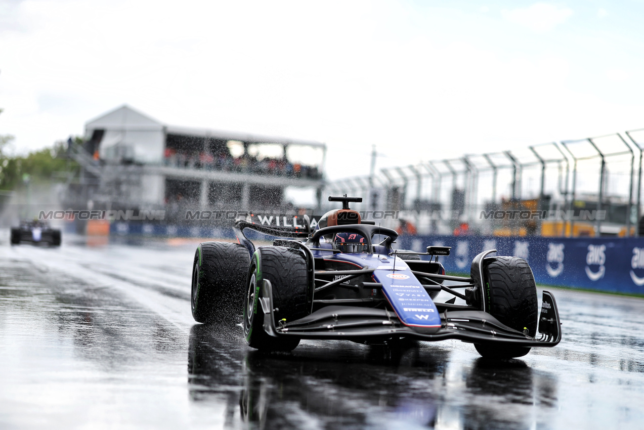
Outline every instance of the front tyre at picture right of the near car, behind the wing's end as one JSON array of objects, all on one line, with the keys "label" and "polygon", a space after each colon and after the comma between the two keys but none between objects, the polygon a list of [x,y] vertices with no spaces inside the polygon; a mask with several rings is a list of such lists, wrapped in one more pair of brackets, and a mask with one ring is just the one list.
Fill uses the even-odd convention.
[{"label": "front tyre at picture right of the near car, behind the wing's end", "polygon": [[[478,279],[478,274],[472,274]],[[486,310],[509,328],[536,335],[537,297],[535,276],[527,261],[519,257],[489,257],[483,261]],[[483,357],[510,359],[526,355],[526,346],[475,344]]]}]

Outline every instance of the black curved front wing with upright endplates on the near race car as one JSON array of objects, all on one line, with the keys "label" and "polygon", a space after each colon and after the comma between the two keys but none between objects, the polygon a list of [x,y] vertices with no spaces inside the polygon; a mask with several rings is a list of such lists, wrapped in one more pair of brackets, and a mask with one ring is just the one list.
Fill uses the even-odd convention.
[{"label": "black curved front wing with upright endplates on the near race car", "polygon": [[410,337],[422,341],[459,339],[464,342],[530,347],[555,346],[561,341],[561,323],[556,302],[547,291],[543,293],[539,338],[529,337],[509,328],[480,310],[446,310],[440,314],[440,328],[431,334],[419,333],[412,327],[404,326],[390,310],[359,306],[325,306],[296,321],[279,321],[275,324],[272,286],[266,279],[263,281],[262,293],[259,300],[264,313],[264,330],[274,337],[352,341]]}]

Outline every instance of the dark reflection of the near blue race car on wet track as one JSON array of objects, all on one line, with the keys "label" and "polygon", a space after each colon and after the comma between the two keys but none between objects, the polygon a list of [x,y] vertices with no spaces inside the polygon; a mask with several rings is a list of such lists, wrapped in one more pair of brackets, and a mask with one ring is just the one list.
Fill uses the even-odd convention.
[{"label": "dark reflection of the near blue race car on wet track", "polygon": [[[475,359],[460,375],[457,389],[449,372],[450,351],[441,348],[336,342],[307,345],[292,354],[250,351],[231,357],[230,341],[220,333],[221,328],[201,325],[191,330],[191,394],[207,401],[227,390],[230,422],[240,415],[252,427],[469,429],[484,422],[488,428],[529,429],[529,415],[465,400],[493,396],[507,404],[556,403],[554,379],[533,373],[521,360],[499,365]],[[233,387],[242,390],[235,393]]]}]

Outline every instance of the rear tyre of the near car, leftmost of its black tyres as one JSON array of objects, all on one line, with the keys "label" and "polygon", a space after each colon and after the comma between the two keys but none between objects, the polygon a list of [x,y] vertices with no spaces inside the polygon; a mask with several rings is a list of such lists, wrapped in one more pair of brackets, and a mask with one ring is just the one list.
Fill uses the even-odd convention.
[{"label": "rear tyre of the near car, leftmost of its black tyres", "polygon": [[249,265],[248,251],[238,243],[200,243],[193,260],[194,321],[238,323]]}]

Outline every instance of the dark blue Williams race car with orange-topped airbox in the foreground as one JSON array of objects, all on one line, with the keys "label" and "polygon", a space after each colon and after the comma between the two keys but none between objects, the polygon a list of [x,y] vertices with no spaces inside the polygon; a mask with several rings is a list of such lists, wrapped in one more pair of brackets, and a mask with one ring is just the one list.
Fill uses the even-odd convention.
[{"label": "dark blue Williams race car with orange-topped airbox in the foreground", "polygon": [[[362,198],[329,201],[343,209],[327,212],[317,230],[306,217],[301,229],[237,221],[239,243],[201,243],[193,264],[194,319],[211,323],[241,312],[249,346],[267,351],[293,350],[300,339],[460,339],[483,357],[512,358],[561,340],[549,292],[537,318],[535,278],[524,259],[488,257],[495,252],[488,250],[473,259],[470,277],[449,276],[437,261],[449,247],[394,250],[395,230],[349,209]],[[277,239],[255,248],[246,229]],[[455,297],[438,303],[439,292]],[[455,304],[456,297],[466,304]]]}]

